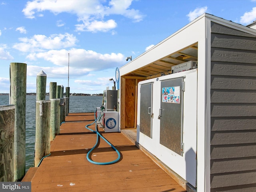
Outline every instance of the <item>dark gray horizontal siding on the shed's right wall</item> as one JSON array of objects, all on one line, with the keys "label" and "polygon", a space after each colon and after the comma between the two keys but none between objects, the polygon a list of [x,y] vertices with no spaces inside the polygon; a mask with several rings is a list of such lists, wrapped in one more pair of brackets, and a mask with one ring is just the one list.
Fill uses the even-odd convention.
[{"label": "dark gray horizontal siding on the shed's right wall", "polygon": [[256,191],[256,36],[211,23],[211,192]]}]

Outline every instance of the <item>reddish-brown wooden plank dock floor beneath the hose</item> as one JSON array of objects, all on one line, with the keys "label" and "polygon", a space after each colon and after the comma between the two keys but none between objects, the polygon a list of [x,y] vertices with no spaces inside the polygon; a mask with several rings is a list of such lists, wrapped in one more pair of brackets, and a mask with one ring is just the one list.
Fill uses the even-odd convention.
[{"label": "reddish-brown wooden plank dock floor beneath the hose", "polygon": [[[122,133],[99,130],[120,151],[117,163],[88,162],[86,154],[94,146],[96,134],[85,126],[93,121],[93,113],[66,116],[60,134],[51,143],[51,155],[39,167],[30,168],[22,180],[32,182],[32,192],[186,192]],[[95,125],[90,128],[94,130]],[[117,154],[100,140],[91,158],[108,162]]]}]

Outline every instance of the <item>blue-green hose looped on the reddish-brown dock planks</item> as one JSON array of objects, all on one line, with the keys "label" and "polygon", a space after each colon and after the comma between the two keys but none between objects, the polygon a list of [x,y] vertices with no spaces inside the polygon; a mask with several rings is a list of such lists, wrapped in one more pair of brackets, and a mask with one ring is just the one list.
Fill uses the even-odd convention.
[{"label": "blue-green hose looped on the reddish-brown dock planks", "polygon": [[[95,114],[96,114],[96,111],[94,112],[94,119],[96,119],[96,116],[95,116]],[[88,129],[88,130],[90,130],[90,131],[92,131],[92,132],[94,132],[94,133],[96,133],[97,134],[97,140],[96,140],[96,144],[93,146],[93,148],[91,148],[91,150],[87,153],[87,155],[86,155],[86,158],[87,158],[87,160],[90,162],[90,163],[92,163],[92,164],[96,164],[96,165],[110,165],[110,164],[114,164],[114,163],[116,163],[116,162],[118,162],[119,160],[120,160],[120,158],[121,158],[121,155],[120,155],[120,152],[108,141],[108,140],[106,140],[106,138],[104,138],[99,132],[98,132],[98,129],[97,129],[97,120],[98,119],[100,119],[102,117],[102,115],[101,116],[99,116],[94,122],[92,122],[91,124],[88,124],[88,125],[86,125],[85,127]],[[88,128],[88,126],[90,126],[90,125],[92,125],[92,124],[94,124],[95,123],[95,131],[94,130],[92,130],[92,129],[90,129],[90,128]],[[114,160],[114,161],[110,161],[110,162],[96,162],[96,161],[93,161],[93,160],[91,160],[90,159],[90,153],[96,148],[96,146],[98,145],[98,142],[99,142],[99,138],[102,138],[104,141],[106,141],[106,143],[108,144],[108,145],[110,145],[115,151],[116,151],[116,153],[118,154],[118,158],[116,158],[116,160]]]}]

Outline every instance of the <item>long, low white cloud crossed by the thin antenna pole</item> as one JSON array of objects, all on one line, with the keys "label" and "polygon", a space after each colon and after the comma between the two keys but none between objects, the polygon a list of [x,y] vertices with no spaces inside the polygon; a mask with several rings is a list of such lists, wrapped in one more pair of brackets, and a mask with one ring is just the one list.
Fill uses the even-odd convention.
[{"label": "long, low white cloud crossed by the thin antenna pole", "polygon": [[68,66],[68,53],[70,53],[70,66],[77,70],[86,69],[86,72],[119,66],[124,60],[124,55],[121,53],[101,54],[92,50],[76,48],[32,53],[26,58],[30,60],[44,59],[57,66]]}]

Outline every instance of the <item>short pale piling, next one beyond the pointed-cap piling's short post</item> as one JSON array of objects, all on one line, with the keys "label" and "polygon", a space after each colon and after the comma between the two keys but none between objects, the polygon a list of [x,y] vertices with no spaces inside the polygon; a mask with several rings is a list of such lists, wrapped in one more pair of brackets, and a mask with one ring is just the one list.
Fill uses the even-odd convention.
[{"label": "short pale piling, next one beyond the pointed-cap piling's short post", "polygon": [[60,99],[51,99],[50,140],[60,134]]}]

